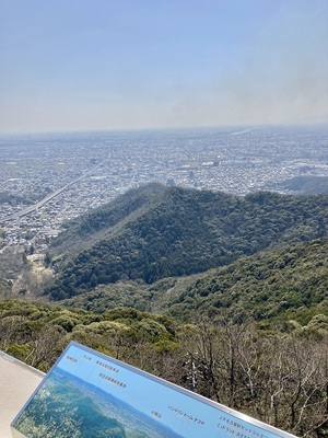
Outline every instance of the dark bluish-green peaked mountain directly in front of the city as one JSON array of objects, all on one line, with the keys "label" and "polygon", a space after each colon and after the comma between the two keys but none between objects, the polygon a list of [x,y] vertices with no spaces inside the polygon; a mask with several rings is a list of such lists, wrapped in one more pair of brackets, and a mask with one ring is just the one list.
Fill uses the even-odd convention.
[{"label": "dark bluish-green peaked mountain directly in front of the city", "polygon": [[120,279],[206,272],[326,235],[327,219],[328,195],[237,197],[151,184],[68,224],[50,251],[59,274],[46,293],[58,300]]}]

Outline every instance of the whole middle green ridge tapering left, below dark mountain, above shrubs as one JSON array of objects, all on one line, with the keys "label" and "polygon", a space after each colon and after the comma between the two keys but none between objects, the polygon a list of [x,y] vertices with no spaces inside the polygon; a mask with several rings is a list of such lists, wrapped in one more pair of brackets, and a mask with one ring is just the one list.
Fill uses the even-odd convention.
[{"label": "whole middle green ridge tapering left, below dark mountain, above shrubs", "polygon": [[119,281],[98,286],[65,300],[66,307],[97,313],[133,307],[183,321],[224,314],[231,322],[296,320],[328,316],[328,238],[265,251],[229,266],[153,285]]}]

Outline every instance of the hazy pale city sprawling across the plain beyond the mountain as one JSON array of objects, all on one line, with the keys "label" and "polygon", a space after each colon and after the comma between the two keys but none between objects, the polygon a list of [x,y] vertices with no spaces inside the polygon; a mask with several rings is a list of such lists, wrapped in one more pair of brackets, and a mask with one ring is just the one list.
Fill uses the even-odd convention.
[{"label": "hazy pale city sprawling across the plain beyond the mountain", "polygon": [[[0,244],[46,251],[62,223],[150,182],[244,196],[328,176],[328,127],[0,138]],[[290,192],[289,192],[290,193]]]}]

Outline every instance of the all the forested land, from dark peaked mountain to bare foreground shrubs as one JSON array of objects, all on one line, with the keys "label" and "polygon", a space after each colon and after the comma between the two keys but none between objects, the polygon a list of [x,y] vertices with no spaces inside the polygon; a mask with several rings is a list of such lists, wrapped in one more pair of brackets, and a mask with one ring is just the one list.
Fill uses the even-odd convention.
[{"label": "all the forested land, from dark peaked mountain to bare foreground shrubs", "polygon": [[328,195],[130,191],[66,224],[38,297],[0,279],[0,349],[47,371],[73,339],[327,437],[327,219]]}]

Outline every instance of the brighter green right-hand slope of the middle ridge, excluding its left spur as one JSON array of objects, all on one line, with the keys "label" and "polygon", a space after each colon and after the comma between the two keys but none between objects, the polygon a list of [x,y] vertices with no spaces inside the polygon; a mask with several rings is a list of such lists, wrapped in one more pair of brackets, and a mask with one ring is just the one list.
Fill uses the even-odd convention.
[{"label": "brighter green right-hand slope of the middle ridge, excluding its left spur", "polygon": [[225,314],[230,321],[297,320],[328,315],[328,239],[265,251],[157,296],[157,309],[188,320]]}]

